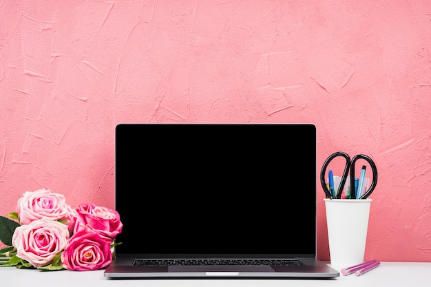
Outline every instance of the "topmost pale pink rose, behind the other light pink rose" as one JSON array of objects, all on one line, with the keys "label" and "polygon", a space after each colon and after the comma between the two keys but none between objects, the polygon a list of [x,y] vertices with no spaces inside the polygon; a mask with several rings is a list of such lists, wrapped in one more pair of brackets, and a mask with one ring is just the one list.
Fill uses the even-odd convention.
[{"label": "topmost pale pink rose, behind the other light pink rose", "polygon": [[[17,202],[17,213],[21,225],[34,220],[50,218],[51,220],[73,220],[72,208],[66,204],[64,195],[50,190],[25,191]],[[72,224],[70,224],[72,225]]]}]

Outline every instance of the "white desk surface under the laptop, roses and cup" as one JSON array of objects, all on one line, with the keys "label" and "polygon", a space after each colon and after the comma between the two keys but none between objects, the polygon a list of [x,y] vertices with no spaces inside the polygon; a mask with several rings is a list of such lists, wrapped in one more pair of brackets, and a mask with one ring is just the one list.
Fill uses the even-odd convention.
[{"label": "white desk surface under the laptop, roses and cup", "polygon": [[[338,268],[336,268],[338,269]],[[238,287],[429,287],[431,262],[381,262],[381,265],[361,276],[340,274],[335,279],[107,279],[103,270],[41,271],[0,267],[0,286],[14,287],[103,287],[103,286],[238,286]]]}]

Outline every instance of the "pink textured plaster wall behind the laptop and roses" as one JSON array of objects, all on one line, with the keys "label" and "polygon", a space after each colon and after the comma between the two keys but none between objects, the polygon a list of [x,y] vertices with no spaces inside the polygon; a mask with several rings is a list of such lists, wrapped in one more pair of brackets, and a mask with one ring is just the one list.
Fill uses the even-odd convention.
[{"label": "pink textured plaster wall behind the laptop and roses", "polygon": [[0,1],[0,214],[113,207],[117,123],[314,123],[377,163],[366,259],[431,261],[430,94],[428,0]]}]

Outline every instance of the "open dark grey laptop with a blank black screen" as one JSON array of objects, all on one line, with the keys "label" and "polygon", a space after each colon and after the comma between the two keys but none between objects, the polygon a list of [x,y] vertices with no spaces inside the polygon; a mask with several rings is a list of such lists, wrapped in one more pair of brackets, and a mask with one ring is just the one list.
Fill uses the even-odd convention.
[{"label": "open dark grey laptop with a blank black screen", "polygon": [[111,279],[333,278],[312,124],[119,124]]}]

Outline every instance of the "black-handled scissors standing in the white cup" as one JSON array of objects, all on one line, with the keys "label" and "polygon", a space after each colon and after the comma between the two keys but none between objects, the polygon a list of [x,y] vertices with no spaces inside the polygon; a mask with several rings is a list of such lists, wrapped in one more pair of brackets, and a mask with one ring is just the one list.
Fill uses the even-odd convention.
[{"label": "black-handled scissors standing in the white cup", "polygon": [[368,198],[368,196],[370,196],[372,191],[374,191],[376,184],[377,184],[377,167],[376,167],[376,164],[372,161],[372,159],[370,157],[368,157],[364,154],[358,154],[358,155],[354,156],[352,158],[352,160],[350,160],[350,157],[348,156],[348,154],[344,153],[342,151],[337,151],[337,152],[331,154],[325,160],[323,167],[322,167],[322,171],[320,171],[320,182],[322,183],[322,187],[324,189],[326,197],[330,198],[331,200],[333,199],[333,195],[330,193],[328,187],[326,186],[326,182],[325,182],[326,168],[328,167],[328,164],[331,162],[331,160],[333,160],[334,158],[337,158],[338,156],[341,156],[341,157],[346,159],[346,166],[344,167],[344,172],[343,172],[343,175],[341,176],[341,182],[339,183],[338,191],[337,191],[337,194],[335,195],[335,198],[337,198],[337,199],[341,198],[341,193],[344,189],[344,184],[346,184],[347,176],[348,176],[348,173],[350,171],[350,198],[356,199],[356,191],[355,191],[355,188],[352,188],[352,187],[355,187],[355,163],[357,160],[359,160],[359,158],[366,160],[370,164],[370,167],[372,169],[372,182],[370,184],[370,188],[363,195],[361,195],[361,197],[358,199]]}]

